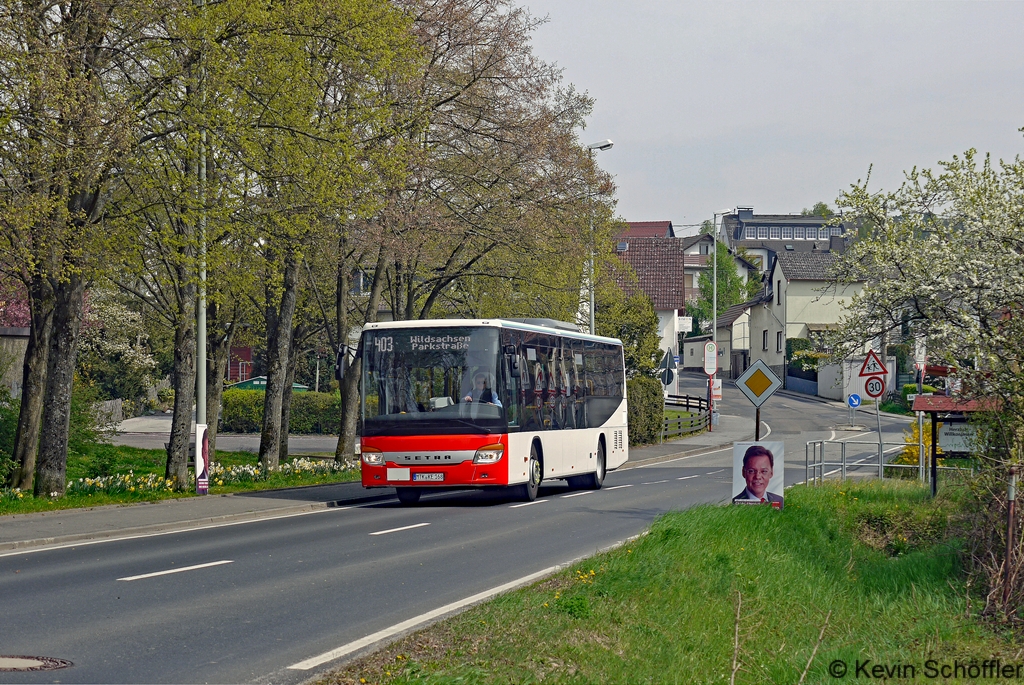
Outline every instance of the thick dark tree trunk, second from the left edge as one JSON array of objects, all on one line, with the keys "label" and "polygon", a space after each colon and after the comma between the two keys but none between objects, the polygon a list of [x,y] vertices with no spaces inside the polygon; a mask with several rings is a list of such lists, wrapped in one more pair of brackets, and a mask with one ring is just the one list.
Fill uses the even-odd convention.
[{"label": "thick dark tree trunk, second from the left edge", "polygon": [[56,284],[53,335],[46,369],[43,427],[36,466],[36,497],[63,497],[68,472],[68,433],[71,427],[71,393],[82,328],[85,280],[81,274]]}]

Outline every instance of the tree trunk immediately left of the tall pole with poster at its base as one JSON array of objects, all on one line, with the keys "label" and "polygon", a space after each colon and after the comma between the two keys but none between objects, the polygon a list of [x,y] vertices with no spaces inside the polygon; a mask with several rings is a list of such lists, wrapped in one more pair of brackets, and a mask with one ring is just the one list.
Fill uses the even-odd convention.
[{"label": "tree trunk immediately left of the tall pole with poster at its base", "polygon": [[[183,269],[180,269],[183,271]],[[179,308],[174,327],[174,415],[167,445],[165,477],[174,488],[188,488],[188,444],[191,441],[193,412],[196,403],[196,286],[187,273],[178,274]]]}]

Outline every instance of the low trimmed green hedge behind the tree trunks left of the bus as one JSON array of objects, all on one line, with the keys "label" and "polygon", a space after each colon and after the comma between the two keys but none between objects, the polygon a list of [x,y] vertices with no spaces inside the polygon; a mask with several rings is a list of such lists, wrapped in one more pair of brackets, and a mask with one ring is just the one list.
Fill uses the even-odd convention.
[{"label": "low trimmed green hedge behind the tree trunks left of the bus", "polygon": [[[258,433],[263,425],[262,390],[225,390],[220,429],[229,433]],[[341,398],[330,392],[295,392],[289,418],[291,433],[337,434]]]}]

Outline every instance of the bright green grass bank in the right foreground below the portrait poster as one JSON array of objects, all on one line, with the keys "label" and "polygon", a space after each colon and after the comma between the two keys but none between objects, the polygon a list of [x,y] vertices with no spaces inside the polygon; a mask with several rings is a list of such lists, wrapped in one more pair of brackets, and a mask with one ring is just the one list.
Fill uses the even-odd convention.
[{"label": "bright green grass bank in the right foreground below the portrait poster", "polygon": [[[797,683],[809,660],[803,682],[842,683],[865,659],[916,665],[918,678],[927,659],[1013,660],[1017,647],[971,614],[946,489],[795,487],[781,512],[670,514],[319,682],[728,683],[735,657],[736,683]],[[837,660],[845,679],[829,676]]]}]

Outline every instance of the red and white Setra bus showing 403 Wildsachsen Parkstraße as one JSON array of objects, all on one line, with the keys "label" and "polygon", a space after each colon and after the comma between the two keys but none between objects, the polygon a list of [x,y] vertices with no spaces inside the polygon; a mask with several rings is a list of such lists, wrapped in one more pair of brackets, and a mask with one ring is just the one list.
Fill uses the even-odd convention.
[{"label": "red and white Setra bus showing 403 Wildsachsen Parkstra\u00dfe", "polygon": [[429,487],[596,489],[629,458],[618,340],[551,319],[391,322],[368,324],[358,354],[362,485],[403,504]]}]

